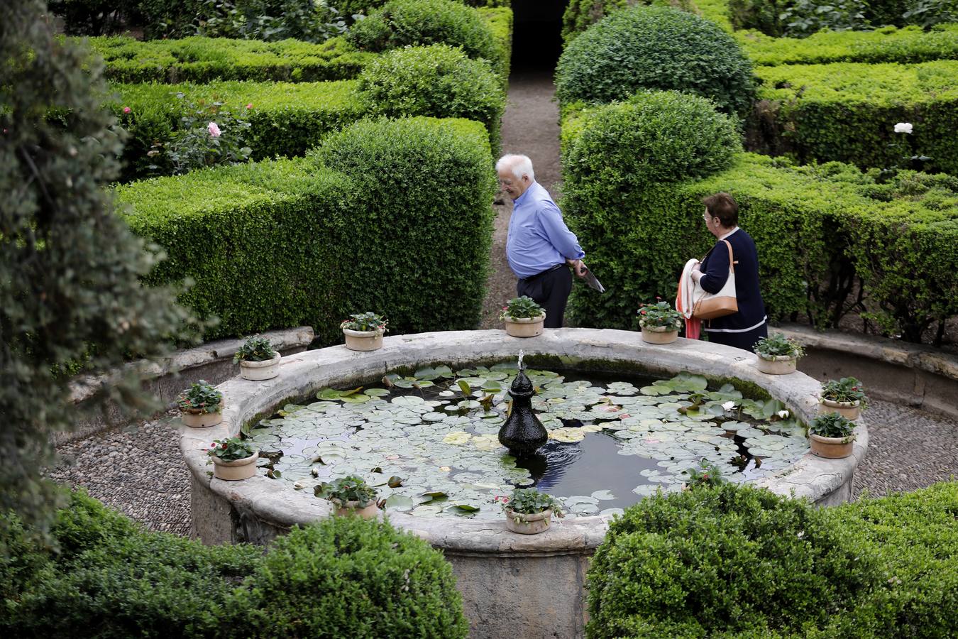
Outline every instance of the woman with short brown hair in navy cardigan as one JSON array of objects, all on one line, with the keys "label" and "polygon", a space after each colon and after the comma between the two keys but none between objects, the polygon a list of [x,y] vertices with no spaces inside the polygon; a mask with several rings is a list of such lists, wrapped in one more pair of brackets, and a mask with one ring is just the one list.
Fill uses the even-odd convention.
[{"label": "woman with short brown hair in navy cardigan", "polygon": [[728,248],[732,244],[735,262],[735,293],[739,312],[706,320],[702,330],[709,341],[751,351],[755,342],[768,334],[765,305],[759,290],[759,254],[755,242],[739,228],[739,204],[730,194],[718,193],[702,199],[705,227],[718,238],[705,259],[696,264],[692,279],[710,293],[718,293],[728,279]]}]

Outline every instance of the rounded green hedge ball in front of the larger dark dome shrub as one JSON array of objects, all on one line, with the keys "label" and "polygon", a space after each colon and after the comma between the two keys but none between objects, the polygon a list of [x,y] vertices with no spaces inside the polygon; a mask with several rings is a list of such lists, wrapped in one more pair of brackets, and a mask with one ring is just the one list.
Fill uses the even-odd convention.
[{"label": "rounded green hedge ball in front of the larger dark dome shrub", "polygon": [[628,102],[586,109],[581,134],[565,149],[566,184],[634,191],[704,177],[741,151],[734,118],[677,91],[641,91]]}]

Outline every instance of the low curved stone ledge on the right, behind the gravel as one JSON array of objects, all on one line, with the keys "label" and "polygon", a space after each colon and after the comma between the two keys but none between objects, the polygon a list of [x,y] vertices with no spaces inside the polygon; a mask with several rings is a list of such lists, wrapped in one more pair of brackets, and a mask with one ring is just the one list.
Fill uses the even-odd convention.
[{"label": "low curved stone ledge on the right, behind the gravel", "polygon": [[958,419],[958,355],[922,344],[808,326],[780,328],[806,347],[803,373],[826,379],[857,377],[869,396]]}]

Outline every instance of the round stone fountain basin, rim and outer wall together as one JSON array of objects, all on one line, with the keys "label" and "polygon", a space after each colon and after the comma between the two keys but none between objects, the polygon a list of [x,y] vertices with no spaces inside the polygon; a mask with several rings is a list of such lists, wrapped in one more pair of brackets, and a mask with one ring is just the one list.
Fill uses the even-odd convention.
[{"label": "round stone fountain basin, rim and outer wall together", "polygon": [[[331,504],[314,496],[311,488],[291,490],[288,479],[270,479],[262,469],[243,482],[212,479],[205,450],[214,439],[236,434],[243,426],[260,427],[289,402],[315,397],[326,388],[351,389],[398,369],[413,371],[444,364],[457,370],[514,362],[520,349],[536,369],[619,378],[673,377],[687,372],[707,378],[714,388],[731,383],[746,397],[778,399],[802,422],[809,422],[817,411],[819,384],[801,373],[767,376],[754,367],[754,354],[684,339],[652,345],[643,342],[640,333],[630,331],[560,329],[527,339],[508,337],[503,331],[434,332],[387,338],[384,347],[372,353],[348,351],[343,346],[309,351],[285,357],[280,377],[266,381],[235,377],[221,384],[226,409],[220,425],[180,428],[181,448],[193,474],[193,535],[206,543],[266,543],[294,524],[331,516]],[[626,386],[616,388],[627,390]],[[433,408],[441,407],[441,402],[436,404]],[[810,454],[795,455],[793,463],[766,472],[753,483],[823,505],[847,500],[855,467],[868,445],[867,427],[858,424],[852,457],[824,460]],[[490,434],[479,437],[494,440],[494,432],[490,428]],[[492,448],[497,445],[490,442]],[[797,450],[794,442],[791,445]],[[501,450],[496,454],[501,456]],[[676,488],[674,483],[671,487],[666,484],[664,488]],[[536,536],[508,532],[501,515],[490,518],[490,510],[485,508],[482,516],[468,509],[465,513],[469,516],[422,516],[429,514],[430,509],[424,509],[418,514],[391,510],[389,517],[400,528],[443,550],[451,561],[463,594],[470,636],[514,636],[516,628],[523,628],[523,637],[576,637],[582,635],[584,626],[582,584],[588,559],[602,542],[614,511],[589,514],[598,509],[585,506],[574,513],[578,516],[559,521]]]}]

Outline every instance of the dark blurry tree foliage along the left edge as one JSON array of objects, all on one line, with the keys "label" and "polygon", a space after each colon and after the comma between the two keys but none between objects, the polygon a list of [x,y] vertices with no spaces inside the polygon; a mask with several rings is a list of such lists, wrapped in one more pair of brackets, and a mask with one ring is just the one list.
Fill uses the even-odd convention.
[{"label": "dark blurry tree foliage along the left edge", "polygon": [[[0,511],[44,520],[56,501],[40,469],[70,427],[70,374],[156,354],[186,319],[169,291],[142,287],[156,257],[114,213],[122,131],[103,110],[101,69],[55,38],[42,0],[0,20]],[[103,386],[129,409],[135,379]],[[0,548],[0,557],[5,548]]]}]

